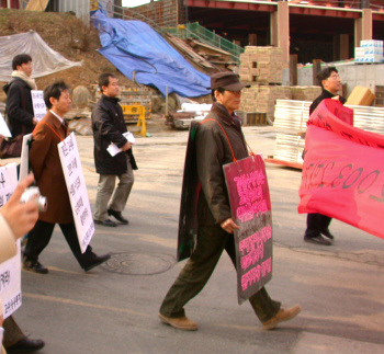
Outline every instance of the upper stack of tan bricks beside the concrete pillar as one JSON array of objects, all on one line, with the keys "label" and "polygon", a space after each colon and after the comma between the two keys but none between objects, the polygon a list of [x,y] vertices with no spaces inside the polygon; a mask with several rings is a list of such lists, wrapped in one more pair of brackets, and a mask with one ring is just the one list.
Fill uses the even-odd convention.
[{"label": "upper stack of tan bricks beside the concrete pillar", "polygon": [[283,52],[276,47],[247,46],[240,55],[240,80],[259,83],[281,83]]}]

